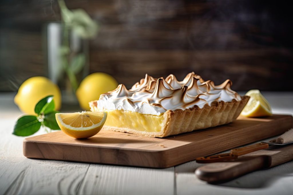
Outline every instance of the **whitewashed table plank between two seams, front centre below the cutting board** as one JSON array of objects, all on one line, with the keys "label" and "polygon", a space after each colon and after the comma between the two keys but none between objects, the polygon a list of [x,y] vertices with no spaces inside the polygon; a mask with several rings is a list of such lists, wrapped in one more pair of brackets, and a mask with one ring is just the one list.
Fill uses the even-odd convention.
[{"label": "whitewashed table plank between two seams, front centre below the cutting board", "polygon": [[174,167],[162,170],[91,164],[80,189],[80,194],[170,195],[174,193]]}]

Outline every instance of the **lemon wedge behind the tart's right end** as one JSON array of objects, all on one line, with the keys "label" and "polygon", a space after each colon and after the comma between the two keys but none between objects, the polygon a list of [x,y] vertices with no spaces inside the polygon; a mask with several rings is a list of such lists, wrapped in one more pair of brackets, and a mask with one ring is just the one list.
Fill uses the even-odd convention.
[{"label": "lemon wedge behind the tart's right end", "polygon": [[242,116],[259,117],[272,115],[272,108],[269,102],[265,99],[259,90],[250,90],[245,95],[250,96],[250,99],[241,112]]}]

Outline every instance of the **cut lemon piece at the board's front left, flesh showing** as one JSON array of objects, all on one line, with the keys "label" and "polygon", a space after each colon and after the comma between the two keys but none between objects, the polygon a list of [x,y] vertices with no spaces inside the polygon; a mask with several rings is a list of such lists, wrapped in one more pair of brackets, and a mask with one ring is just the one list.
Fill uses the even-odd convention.
[{"label": "cut lemon piece at the board's front left, flesh showing", "polygon": [[106,112],[56,113],[60,129],[74,138],[88,138],[96,135],[103,127]]}]

